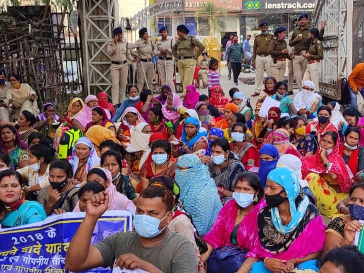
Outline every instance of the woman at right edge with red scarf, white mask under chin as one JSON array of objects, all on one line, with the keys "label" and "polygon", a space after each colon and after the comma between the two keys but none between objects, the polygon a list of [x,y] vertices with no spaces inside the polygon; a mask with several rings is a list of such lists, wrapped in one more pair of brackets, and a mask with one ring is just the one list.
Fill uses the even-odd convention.
[{"label": "woman at right edge with red scarf, white mask under chin", "polygon": [[339,155],[344,159],[351,173],[359,178],[358,181],[362,181],[364,147],[359,146],[359,140],[359,129],[356,127],[347,128],[344,135],[344,142],[340,144]]}]

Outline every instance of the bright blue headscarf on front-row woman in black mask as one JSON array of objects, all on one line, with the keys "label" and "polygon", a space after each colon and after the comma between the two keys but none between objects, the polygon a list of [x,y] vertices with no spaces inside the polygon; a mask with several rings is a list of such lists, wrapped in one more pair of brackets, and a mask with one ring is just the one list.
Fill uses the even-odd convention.
[{"label": "bright blue headscarf on front-row woman in black mask", "polygon": [[301,203],[296,207],[296,199],[300,195],[301,188],[297,174],[286,167],[277,168],[268,173],[268,179],[281,185],[287,194],[290,205],[291,221],[287,225],[283,225],[279,214],[279,209],[274,207],[271,209],[271,219],[277,231],[282,234],[290,233],[295,230],[306,214],[309,204],[307,196],[303,197]]}]

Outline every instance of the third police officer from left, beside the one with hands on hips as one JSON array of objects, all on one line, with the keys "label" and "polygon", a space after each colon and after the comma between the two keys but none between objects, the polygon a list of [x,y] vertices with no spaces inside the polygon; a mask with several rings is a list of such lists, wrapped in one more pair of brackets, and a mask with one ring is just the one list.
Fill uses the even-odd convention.
[{"label": "third police officer from left, beside the one with hands on hips", "polygon": [[173,55],[172,48],[175,43],[173,38],[168,38],[168,28],[159,29],[162,39],[157,40],[154,46],[154,55],[158,56],[157,69],[162,85],[168,84],[172,93],[175,93],[173,82]]}]

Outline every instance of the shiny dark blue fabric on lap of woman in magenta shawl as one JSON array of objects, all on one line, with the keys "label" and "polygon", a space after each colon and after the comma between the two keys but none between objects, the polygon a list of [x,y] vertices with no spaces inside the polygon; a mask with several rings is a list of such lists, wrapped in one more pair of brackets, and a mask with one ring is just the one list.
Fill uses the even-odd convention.
[{"label": "shiny dark blue fabric on lap of woman in magenta shawl", "polygon": [[207,273],[235,273],[245,261],[248,251],[236,246],[215,249],[207,260]]}]

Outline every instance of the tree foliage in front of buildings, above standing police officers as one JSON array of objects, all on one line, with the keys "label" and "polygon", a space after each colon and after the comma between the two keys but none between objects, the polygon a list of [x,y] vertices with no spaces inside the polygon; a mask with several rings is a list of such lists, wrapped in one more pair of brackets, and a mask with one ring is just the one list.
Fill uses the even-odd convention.
[{"label": "tree foliage in front of buildings, above standing police officers", "polygon": [[228,11],[215,7],[212,1],[206,2],[196,10],[197,31],[206,31],[213,37],[226,29],[226,18]]}]

